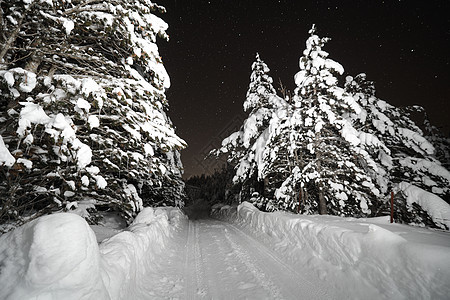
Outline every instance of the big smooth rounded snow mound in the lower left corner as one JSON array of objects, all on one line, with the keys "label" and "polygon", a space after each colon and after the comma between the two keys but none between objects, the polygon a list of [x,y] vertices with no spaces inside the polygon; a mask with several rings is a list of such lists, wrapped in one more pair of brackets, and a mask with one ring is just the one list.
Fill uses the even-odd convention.
[{"label": "big smooth rounded snow mound in the lower left corner", "polygon": [[94,232],[81,217],[54,214],[0,237],[0,298],[107,297]]}]

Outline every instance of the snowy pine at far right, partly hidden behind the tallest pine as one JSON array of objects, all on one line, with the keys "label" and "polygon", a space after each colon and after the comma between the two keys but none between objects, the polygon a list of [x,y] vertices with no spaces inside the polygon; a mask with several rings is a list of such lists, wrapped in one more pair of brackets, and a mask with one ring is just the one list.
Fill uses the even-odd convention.
[{"label": "snowy pine at far right, partly hidden behind the tallest pine", "polygon": [[[383,145],[376,151],[367,149],[377,162],[377,182],[382,193],[386,195],[406,181],[440,196],[448,203],[450,172],[439,162],[435,148],[410,116],[411,110],[423,112],[423,108],[399,108],[378,99],[373,82],[368,81],[365,74],[354,78],[348,76],[345,87],[361,106],[361,112],[352,118],[355,127],[366,133],[365,143]],[[429,121],[425,121],[432,132]],[[441,155],[445,155],[445,145],[440,150]],[[388,198],[387,195],[384,198]]]}]

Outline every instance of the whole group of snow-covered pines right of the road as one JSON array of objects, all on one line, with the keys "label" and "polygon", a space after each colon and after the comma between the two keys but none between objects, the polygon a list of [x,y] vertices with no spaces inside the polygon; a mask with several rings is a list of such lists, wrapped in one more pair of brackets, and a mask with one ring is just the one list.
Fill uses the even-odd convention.
[{"label": "whole group of snow-covered pines right of the road", "polygon": [[[394,192],[398,221],[445,228],[431,220],[437,206],[411,203],[409,191],[450,201],[448,138],[423,108],[379,99],[365,74],[339,80],[343,66],[323,50],[329,39],[314,26],[309,33],[292,94],[277,94],[256,56],[243,105],[248,117],[212,152],[234,166],[230,190],[266,211],[352,217],[386,214]],[[416,113],[424,124],[413,121]]]}]

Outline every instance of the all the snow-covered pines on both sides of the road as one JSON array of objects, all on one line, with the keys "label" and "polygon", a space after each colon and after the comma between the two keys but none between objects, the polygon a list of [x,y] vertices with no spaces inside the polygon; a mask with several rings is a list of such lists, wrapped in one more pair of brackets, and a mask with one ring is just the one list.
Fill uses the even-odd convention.
[{"label": "all the snow-covered pines on both sides of the road", "polygon": [[[157,46],[168,39],[157,16],[165,9],[144,0],[0,3],[2,230],[62,211],[92,224],[115,211],[131,223],[144,206],[196,200],[182,179],[187,144],[169,117]],[[393,193],[396,221],[449,229],[430,204],[450,201],[448,137],[422,107],[377,98],[365,74],[343,78],[328,41],[310,29],[292,92],[276,90],[256,54],[248,116],[210,154],[227,166],[186,184],[211,204],[346,217],[388,214]]]}]

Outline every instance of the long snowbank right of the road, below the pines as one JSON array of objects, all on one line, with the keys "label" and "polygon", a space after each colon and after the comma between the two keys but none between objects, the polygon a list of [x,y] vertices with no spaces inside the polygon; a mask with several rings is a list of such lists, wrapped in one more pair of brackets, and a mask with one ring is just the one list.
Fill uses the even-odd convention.
[{"label": "long snowbank right of the road, below the pines", "polygon": [[[448,233],[436,232],[442,234],[440,245],[412,242],[368,219],[264,213],[248,202],[237,209],[215,207],[213,216],[249,229],[298,269],[314,269],[318,280],[336,291],[337,299],[448,299],[450,295]],[[393,226],[401,231],[409,227]]]}]

